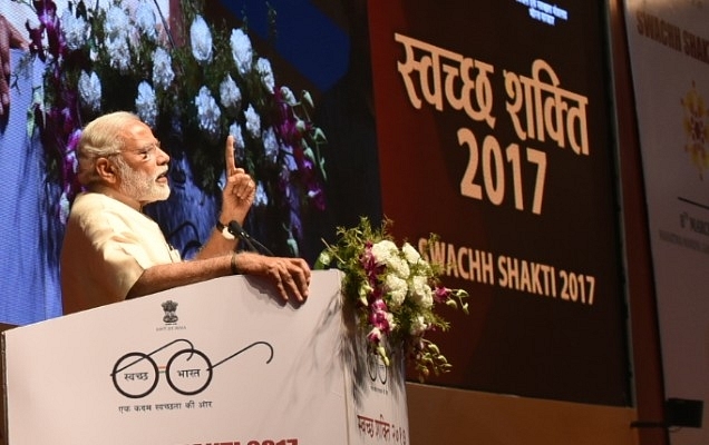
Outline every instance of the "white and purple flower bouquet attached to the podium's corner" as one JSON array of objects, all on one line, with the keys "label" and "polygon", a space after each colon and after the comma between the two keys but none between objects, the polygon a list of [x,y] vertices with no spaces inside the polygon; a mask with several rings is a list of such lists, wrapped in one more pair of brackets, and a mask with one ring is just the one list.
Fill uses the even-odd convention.
[{"label": "white and purple flower bouquet attached to the podium's corner", "polygon": [[[337,241],[327,245],[315,268],[337,267],[343,273],[342,293],[358,310],[360,328],[371,352],[390,364],[390,347],[401,346],[420,380],[451,365],[426,334],[447,330],[449,323],[436,313],[438,305],[462,308],[468,296],[463,289],[440,284],[441,265],[427,261],[410,244],[399,248],[388,234],[391,221],[373,229],[367,218],[354,228],[338,228]],[[428,246],[437,237],[431,235]]]}]

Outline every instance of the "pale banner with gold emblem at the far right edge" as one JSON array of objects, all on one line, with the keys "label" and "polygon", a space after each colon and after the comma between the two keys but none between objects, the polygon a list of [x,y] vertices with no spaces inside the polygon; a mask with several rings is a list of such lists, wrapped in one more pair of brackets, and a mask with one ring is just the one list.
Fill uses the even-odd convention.
[{"label": "pale banner with gold emblem at the far right edge", "polygon": [[[668,398],[709,399],[709,11],[700,2],[628,1],[650,241]],[[709,443],[678,428],[672,444]]]}]

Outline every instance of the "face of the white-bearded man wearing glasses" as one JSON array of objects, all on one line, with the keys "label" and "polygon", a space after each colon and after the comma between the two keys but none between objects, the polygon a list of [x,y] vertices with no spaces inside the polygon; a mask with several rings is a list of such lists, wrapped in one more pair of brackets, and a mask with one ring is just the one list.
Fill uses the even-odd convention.
[{"label": "face of the white-bearded man wearing glasses", "polygon": [[150,128],[136,121],[126,128],[124,137],[126,145],[116,162],[120,177],[118,191],[142,206],[167,199],[169,156],[161,149]]}]

